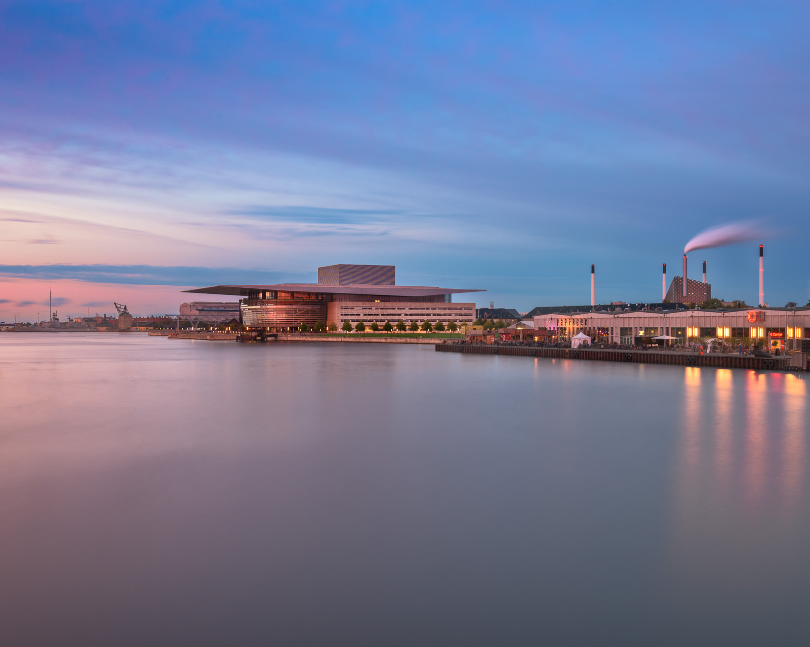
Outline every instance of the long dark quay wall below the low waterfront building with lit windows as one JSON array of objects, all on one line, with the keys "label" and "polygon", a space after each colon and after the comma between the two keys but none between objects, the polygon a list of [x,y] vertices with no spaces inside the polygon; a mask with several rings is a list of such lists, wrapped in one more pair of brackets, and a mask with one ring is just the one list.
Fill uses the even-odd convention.
[{"label": "long dark quay wall below the low waterfront building with lit windows", "polygon": [[548,357],[559,360],[599,360],[603,362],[633,362],[635,364],[748,368],[756,371],[808,370],[807,353],[793,353],[778,357],[754,357],[753,355],[721,355],[719,353],[700,355],[697,353],[667,351],[622,351],[608,348],[546,348],[443,343],[437,343],[436,350],[446,353],[518,355],[521,357]]}]

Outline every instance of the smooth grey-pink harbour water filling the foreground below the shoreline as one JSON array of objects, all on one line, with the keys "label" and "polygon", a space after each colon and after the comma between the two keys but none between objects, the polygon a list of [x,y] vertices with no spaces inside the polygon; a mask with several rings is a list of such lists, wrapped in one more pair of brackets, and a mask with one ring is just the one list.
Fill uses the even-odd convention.
[{"label": "smooth grey-pink harbour water filling the foreground below the shoreline", "polygon": [[806,645],[808,374],[0,336],[4,645]]}]

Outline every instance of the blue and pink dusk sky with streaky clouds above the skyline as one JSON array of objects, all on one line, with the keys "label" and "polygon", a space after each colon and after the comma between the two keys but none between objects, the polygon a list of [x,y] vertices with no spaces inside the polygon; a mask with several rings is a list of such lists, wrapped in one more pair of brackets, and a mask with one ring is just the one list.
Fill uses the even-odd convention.
[{"label": "blue and pink dusk sky with streaky clouds above the skyline", "polygon": [[[0,0],[0,319],[181,290],[483,288],[479,305],[810,299],[806,2]],[[804,242],[803,242],[804,241]],[[196,298],[196,297],[195,297]],[[214,297],[212,297],[214,298]],[[221,297],[228,300],[228,297]],[[109,302],[109,303],[108,303]]]}]

